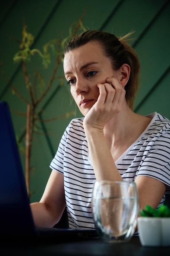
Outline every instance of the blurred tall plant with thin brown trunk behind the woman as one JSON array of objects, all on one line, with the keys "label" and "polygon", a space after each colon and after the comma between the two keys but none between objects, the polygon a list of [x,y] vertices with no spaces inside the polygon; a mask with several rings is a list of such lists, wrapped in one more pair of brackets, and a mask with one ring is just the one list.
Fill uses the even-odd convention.
[{"label": "blurred tall plant with thin brown trunk behind the woman", "polygon": [[[56,77],[57,70],[59,69],[59,65],[63,62],[64,57],[64,49],[65,44],[67,43],[68,39],[72,36],[75,36],[78,32],[78,30],[85,31],[85,27],[82,23],[83,16],[77,21],[74,22],[72,25],[70,25],[69,28],[69,34],[66,38],[61,40],[61,36],[57,39],[53,39],[48,41],[44,47],[43,51],[40,51],[39,49],[31,49],[34,43],[34,36],[31,33],[28,33],[27,26],[23,25],[22,29],[22,40],[20,43],[20,51],[18,51],[15,56],[13,57],[13,61],[16,63],[18,61],[22,61],[22,71],[24,74],[24,80],[26,83],[26,88],[28,90],[29,100],[26,99],[11,83],[11,81],[7,78],[4,70],[1,66],[1,71],[4,77],[7,79],[9,85],[12,88],[13,94],[16,94],[24,103],[27,105],[27,113],[26,113],[26,170],[25,170],[25,177],[26,177],[26,187],[28,196],[30,197],[30,162],[31,162],[31,149],[32,149],[32,143],[33,143],[33,132],[36,131],[37,126],[36,122],[39,120],[39,114],[43,111],[42,108],[37,109],[39,106],[39,103],[46,97],[49,90],[52,88],[52,84],[54,82],[54,79],[60,80],[60,85],[63,85],[64,78],[62,76]],[[54,69],[52,71],[52,75],[50,77],[50,80],[48,82],[48,85],[45,85],[45,81],[43,76],[35,70],[33,75],[33,84],[30,81],[31,75],[28,72],[27,62],[30,62],[32,60],[32,56],[35,54],[38,54],[42,60],[42,65],[44,68],[48,68],[48,65],[51,63],[51,54],[50,51],[52,51],[52,54],[55,56],[55,65]],[[37,91],[38,90],[38,91]],[[38,93],[37,93],[38,92]],[[39,95],[39,97],[37,96]],[[20,113],[17,111],[19,115],[23,115],[23,113]],[[51,118],[48,120],[43,121],[52,121],[54,119],[69,117],[70,115],[74,115],[74,112],[66,113],[65,116],[57,117],[57,118]],[[42,121],[42,120],[41,120]],[[18,141],[18,139],[17,139]],[[22,148],[23,150],[23,148]]]}]

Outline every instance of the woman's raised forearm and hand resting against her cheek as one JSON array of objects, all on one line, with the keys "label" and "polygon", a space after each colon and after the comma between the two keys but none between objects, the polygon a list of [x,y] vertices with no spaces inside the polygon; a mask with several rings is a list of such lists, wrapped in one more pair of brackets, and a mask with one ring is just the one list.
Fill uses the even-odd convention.
[{"label": "woman's raised forearm and hand resting against her cheek", "polygon": [[[114,83],[114,88],[109,83]],[[98,84],[98,101],[89,110],[83,121],[85,135],[97,180],[122,180],[104,135],[104,128],[122,110],[125,90],[117,79]]]}]

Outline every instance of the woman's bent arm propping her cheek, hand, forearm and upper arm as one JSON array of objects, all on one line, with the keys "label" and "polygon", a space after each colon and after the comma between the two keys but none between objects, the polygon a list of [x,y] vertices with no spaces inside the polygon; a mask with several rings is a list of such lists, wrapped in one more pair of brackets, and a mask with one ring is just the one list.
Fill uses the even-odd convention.
[{"label": "woman's bent arm propping her cheek, hand, forearm and upper arm", "polygon": [[[108,93],[105,92],[105,88]],[[115,106],[110,108],[111,118],[117,114],[116,111],[119,111],[119,107],[121,109],[120,103],[122,102],[122,97],[124,97],[123,92],[121,94],[121,88],[119,88],[116,83],[114,83],[114,88],[116,91],[115,95],[118,90],[120,90],[120,92],[118,92],[116,96]],[[105,102],[110,100],[110,103],[113,103],[114,101],[111,101],[111,97],[114,98],[114,95],[113,92],[112,94],[110,93],[111,91],[109,90],[112,90],[112,88],[109,88],[107,84],[105,84],[105,87],[99,85],[99,89],[100,96],[98,97],[98,101],[94,104],[92,109],[89,110],[83,122],[89,146],[89,153],[91,155],[97,180],[122,180],[103,132],[105,124],[109,120],[109,110],[107,112],[108,108],[105,109],[105,107],[107,107]],[[108,99],[109,95],[110,98]],[[109,102],[107,103],[109,104]],[[117,110],[116,106],[118,106]],[[151,205],[153,208],[157,208],[166,190],[166,185],[155,178],[144,175],[137,177],[135,182],[139,191],[139,208],[144,209],[147,204]]]}]

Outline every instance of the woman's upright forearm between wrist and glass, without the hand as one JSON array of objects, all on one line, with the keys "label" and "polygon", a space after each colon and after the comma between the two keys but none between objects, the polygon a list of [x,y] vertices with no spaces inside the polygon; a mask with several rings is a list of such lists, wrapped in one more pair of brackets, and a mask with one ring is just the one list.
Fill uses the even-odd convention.
[{"label": "woman's upright forearm between wrist and glass, without the hand", "polygon": [[85,128],[96,180],[122,180],[102,129]]}]

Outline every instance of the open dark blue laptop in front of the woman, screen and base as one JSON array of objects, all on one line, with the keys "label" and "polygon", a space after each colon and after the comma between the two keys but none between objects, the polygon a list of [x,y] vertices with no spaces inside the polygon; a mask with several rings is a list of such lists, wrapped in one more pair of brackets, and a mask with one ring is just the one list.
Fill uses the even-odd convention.
[{"label": "open dark blue laptop in front of the woman, screen and base", "polygon": [[23,236],[55,242],[98,237],[95,229],[35,227],[10,108],[7,102],[0,101],[0,237]]}]

